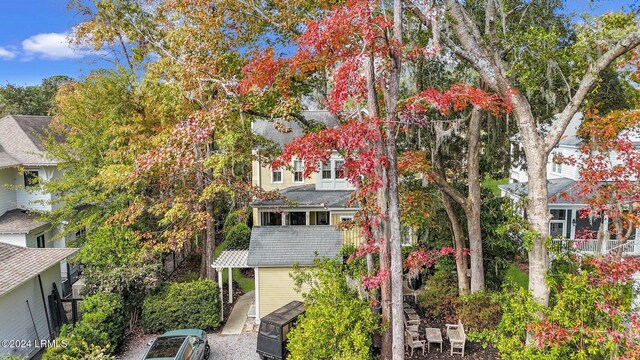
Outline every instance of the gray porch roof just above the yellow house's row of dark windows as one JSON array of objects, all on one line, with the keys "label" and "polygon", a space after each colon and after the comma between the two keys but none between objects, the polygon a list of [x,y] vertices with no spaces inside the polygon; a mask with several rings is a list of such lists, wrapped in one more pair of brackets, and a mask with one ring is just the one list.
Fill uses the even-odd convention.
[{"label": "gray porch roof just above the yellow house's row of dark windows", "polygon": [[[316,190],[314,184],[290,186],[280,190],[280,194],[298,206],[320,206],[325,208],[344,208],[352,190]],[[253,207],[289,206],[284,200],[256,200]],[[356,207],[356,205],[352,205]]]}]

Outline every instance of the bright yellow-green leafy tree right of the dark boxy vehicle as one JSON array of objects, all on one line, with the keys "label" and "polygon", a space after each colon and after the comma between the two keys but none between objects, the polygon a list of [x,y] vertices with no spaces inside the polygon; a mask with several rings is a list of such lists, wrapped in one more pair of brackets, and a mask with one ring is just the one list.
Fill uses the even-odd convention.
[{"label": "bright yellow-green leafy tree right of the dark boxy vehicle", "polygon": [[303,293],[305,313],[289,332],[291,359],[371,359],[378,317],[367,300],[347,286],[345,271],[334,259],[316,259],[314,267],[292,274]]}]

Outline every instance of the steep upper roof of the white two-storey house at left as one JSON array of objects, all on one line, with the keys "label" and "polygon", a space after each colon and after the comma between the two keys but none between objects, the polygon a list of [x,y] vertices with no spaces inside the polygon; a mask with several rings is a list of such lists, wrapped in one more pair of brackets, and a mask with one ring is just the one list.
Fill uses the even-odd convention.
[{"label": "steep upper roof of the white two-storey house at left", "polygon": [[56,165],[46,156],[39,136],[45,134],[50,116],[7,115],[0,119],[0,167]]}]

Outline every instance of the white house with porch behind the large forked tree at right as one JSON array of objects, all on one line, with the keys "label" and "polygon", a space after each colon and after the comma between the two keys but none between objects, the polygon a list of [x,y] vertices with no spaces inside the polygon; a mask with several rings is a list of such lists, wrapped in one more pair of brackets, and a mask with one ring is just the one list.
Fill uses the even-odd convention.
[{"label": "white house with porch behind the large forked tree at right", "polygon": [[[564,132],[562,139],[556,148],[549,155],[547,163],[547,187],[549,196],[549,211],[553,216],[549,223],[549,234],[554,239],[566,239],[569,242],[576,240],[576,235],[591,232],[597,233],[601,221],[604,221],[604,227],[608,227],[608,219],[593,217],[583,218],[580,211],[587,207],[587,204],[577,200],[576,181],[579,180],[578,166],[580,159],[579,146],[581,140],[576,136],[577,130],[582,121],[581,115],[576,115]],[[640,140],[640,139],[638,139]],[[638,144],[640,145],[640,143]],[[576,159],[575,164],[558,163],[554,161],[555,155]],[[507,185],[500,185],[502,196],[508,196],[514,200],[526,198],[528,194],[527,172],[522,166],[513,166],[509,174],[509,182]],[[627,240],[624,245],[623,253],[626,255],[640,255],[640,243],[636,241],[640,239],[640,230],[636,229],[635,234]],[[585,252],[594,252],[598,249],[596,240],[579,240],[575,241],[577,248]],[[611,250],[617,246],[615,235],[611,235],[611,239],[607,244],[607,250]]]}]

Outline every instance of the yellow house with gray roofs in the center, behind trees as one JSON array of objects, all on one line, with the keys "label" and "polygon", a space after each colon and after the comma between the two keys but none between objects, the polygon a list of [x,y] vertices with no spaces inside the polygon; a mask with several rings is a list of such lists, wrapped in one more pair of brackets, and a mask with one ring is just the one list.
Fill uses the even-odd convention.
[{"label": "yellow house with gray roofs in the center, behind trees", "polygon": [[[310,123],[336,125],[327,111],[305,111],[302,116]],[[297,123],[286,126],[289,131],[283,133],[272,122],[257,120],[252,124],[254,133],[279,147],[304,134]],[[279,190],[283,197],[252,203],[254,226],[247,265],[255,269],[257,321],[282,305],[302,300],[290,276],[294,264],[313,265],[316,256],[336,257],[344,244],[357,245],[361,241],[357,231],[337,228],[340,222],[352,220],[358,211],[347,205],[355,189],[344,176],[343,164],[342,157],[334,151],[327,164],[319,164],[315,173],[304,178],[301,161],[294,160],[279,169],[254,161],[254,185],[267,191]]]}]

